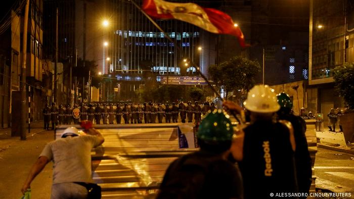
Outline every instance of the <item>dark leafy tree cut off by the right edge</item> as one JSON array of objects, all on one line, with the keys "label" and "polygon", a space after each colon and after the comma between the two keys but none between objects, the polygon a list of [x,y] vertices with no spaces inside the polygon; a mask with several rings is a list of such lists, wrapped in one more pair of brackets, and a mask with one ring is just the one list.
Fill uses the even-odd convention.
[{"label": "dark leafy tree cut off by the right edge", "polygon": [[354,110],[354,63],[345,63],[334,68],[334,83],[345,105]]}]

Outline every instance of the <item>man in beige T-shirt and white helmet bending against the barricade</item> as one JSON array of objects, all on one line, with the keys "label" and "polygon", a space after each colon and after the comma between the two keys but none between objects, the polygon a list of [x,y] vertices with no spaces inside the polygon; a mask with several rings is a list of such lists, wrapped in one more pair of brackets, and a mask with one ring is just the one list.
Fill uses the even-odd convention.
[{"label": "man in beige T-shirt and white helmet bending against the barricade", "polygon": [[[49,142],[39,155],[36,163],[21,189],[25,193],[33,179],[53,161],[53,185],[51,198],[88,198],[90,194],[101,195],[100,187],[94,184],[91,174],[91,150],[104,142],[94,128],[84,134],[75,127],[64,130],[62,138]],[[92,198],[92,197],[89,197]]]}]

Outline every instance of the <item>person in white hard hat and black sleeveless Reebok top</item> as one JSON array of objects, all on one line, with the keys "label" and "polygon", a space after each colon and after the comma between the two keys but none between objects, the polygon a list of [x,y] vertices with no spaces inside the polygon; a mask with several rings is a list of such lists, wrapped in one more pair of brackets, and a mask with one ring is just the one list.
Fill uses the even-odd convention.
[{"label": "person in white hard hat and black sleeveless Reebok top", "polygon": [[[242,111],[229,101],[224,106],[237,113]],[[254,86],[244,107],[249,111],[251,124],[236,131],[231,152],[239,161],[245,198],[272,198],[271,193],[297,192],[293,129],[288,121],[274,122],[274,114],[280,109],[274,90],[268,85]]]}]

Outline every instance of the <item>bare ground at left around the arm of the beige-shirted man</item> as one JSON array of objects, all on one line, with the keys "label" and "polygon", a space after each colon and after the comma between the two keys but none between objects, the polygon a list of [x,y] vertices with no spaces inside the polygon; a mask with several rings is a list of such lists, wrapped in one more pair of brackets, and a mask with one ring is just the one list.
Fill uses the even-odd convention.
[{"label": "bare ground at left around the arm of the beige-shirted man", "polygon": [[[26,140],[11,137],[11,128],[0,129],[0,198],[20,198],[30,168],[54,132],[43,130],[43,122],[33,122]],[[35,136],[34,136],[35,135]],[[49,163],[31,184],[32,198],[50,198],[53,164]]]}]

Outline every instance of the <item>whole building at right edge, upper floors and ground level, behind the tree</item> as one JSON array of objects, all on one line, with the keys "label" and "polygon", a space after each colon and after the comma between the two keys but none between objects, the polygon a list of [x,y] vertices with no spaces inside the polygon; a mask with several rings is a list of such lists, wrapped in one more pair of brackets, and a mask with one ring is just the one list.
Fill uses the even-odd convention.
[{"label": "whole building at right edge, upper floors and ground level, behind the tree", "polygon": [[353,6],[347,0],[310,1],[308,110],[328,113],[344,107],[334,88],[333,68],[354,61]]}]

